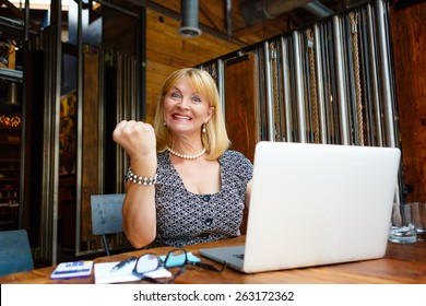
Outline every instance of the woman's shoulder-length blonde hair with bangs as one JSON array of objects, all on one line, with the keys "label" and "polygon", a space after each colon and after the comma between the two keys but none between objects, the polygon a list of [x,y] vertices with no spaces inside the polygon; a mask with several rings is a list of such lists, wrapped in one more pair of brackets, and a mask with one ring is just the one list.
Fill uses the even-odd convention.
[{"label": "woman's shoulder-length blonde hair with bangs", "polygon": [[216,83],[209,72],[196,68],[184,68],[175,71],[163,85],[154,119],[157,152],[163,152],[171,145],[171,133],[164,125],[164,98],[170,89],[185,78],[189,79],[197,92],[209,97],[209,107],[214,107],[212,118],[205,123],[205,132],[201,132],[201,141],[209,153],[208,158],[217,160],[229,148],[230,141],[226,132]]}]

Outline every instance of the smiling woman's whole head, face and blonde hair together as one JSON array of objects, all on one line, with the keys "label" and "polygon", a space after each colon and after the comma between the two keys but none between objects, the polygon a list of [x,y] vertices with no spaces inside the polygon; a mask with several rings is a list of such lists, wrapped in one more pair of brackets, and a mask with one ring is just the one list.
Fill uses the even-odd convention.
[{"label": "smiling woman's whole head, face and blonde hair together", "polygon": [[[184,99],[180,105],[179,99]],[[201,132],[204,122],[205,132]],[[166,79],[155,108],[154,130],[158,152],[171,148],[178,137],[201,140],[213,160],[229,148],[217,85],[208,71],[182,68]]]}]

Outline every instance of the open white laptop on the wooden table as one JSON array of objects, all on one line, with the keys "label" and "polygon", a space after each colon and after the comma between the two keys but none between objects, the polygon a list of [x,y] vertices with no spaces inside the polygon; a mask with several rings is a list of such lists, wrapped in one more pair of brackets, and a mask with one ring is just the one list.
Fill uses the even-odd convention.
[{"label": "open white laptop on the wooden table", "polygon": [[261,141],[245,246],[200,254],[246,273],[384,256],[401,152]]}]

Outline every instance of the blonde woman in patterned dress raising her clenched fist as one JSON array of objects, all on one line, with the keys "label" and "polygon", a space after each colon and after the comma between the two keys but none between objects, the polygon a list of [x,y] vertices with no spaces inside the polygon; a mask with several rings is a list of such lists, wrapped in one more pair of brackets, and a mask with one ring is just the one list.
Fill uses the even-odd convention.
[{"label": "blonde woman in patterned dress raising her clenched fist", "polygon": [[130,158],[123,228],[135,248],[182,247],[239,235],[251,163],[228,151],[216,84],[198,69],[175,71],[154,128],[121,121],[113,138]]}]

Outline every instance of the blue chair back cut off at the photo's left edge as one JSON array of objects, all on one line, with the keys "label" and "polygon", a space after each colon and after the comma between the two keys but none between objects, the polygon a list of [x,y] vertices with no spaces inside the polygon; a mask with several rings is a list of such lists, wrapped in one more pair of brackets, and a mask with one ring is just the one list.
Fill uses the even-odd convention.
[{"label": "blue chair back cut off at the photo's left edge", "polygon": [[25,229],[0,232],[0,275],[34,269]]}]

